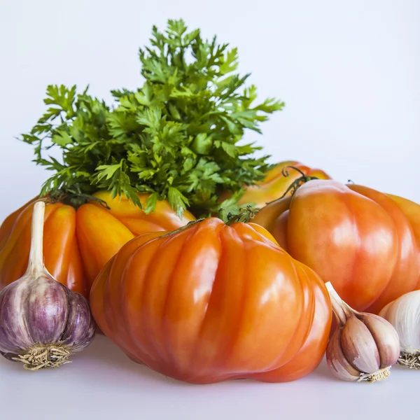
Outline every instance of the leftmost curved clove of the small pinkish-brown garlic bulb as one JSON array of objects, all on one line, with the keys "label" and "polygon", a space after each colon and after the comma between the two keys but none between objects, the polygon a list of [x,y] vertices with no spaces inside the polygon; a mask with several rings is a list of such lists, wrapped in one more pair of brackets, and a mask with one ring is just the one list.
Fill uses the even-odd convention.
[{"label": "leftmost curved clove of the small pinkish-brown garlic bulb", "polygon": [[343,381],[357,381],[360,377],[360,372],[344,356],[341,339],[342,329],[337,328],[328,342],[326,351],[327,365],[338,379],[342,379]]}]

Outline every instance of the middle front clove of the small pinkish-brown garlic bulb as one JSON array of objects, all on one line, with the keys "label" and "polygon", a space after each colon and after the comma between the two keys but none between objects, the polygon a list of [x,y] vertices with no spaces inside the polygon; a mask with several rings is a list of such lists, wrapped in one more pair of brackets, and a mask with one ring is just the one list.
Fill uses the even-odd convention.
[{"label": "middle front clove of the small pinkish-brown garlic bulb", "polygon": [[377,344],[367,326],[353,314],[342,328],[341,343],[344,356],[357,370],[373,373],[379,369],[381,359]]}]

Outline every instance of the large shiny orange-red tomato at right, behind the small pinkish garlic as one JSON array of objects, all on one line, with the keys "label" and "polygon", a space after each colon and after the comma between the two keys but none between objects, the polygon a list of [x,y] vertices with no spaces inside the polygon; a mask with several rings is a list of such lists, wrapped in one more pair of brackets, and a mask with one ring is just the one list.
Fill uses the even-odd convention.
[{"label": "large shiny orange-red tomato at right, behind the small pinkish garlic", "polygon": [[420,288],[420,206],[409,200],[316,180],[270,203],[253,222],[356,310],[377,314]]}]

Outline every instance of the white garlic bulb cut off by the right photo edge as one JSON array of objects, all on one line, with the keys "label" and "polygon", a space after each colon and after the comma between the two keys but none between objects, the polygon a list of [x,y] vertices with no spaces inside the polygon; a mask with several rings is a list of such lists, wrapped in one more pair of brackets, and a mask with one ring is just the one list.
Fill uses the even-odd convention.
[{"label": "white garlic bulb cut off by the right photo edge", "polygon": [[420,290],[405,293],[388,303],[379,316],[390,322],[400,337],[398,364],[420,369]]}]

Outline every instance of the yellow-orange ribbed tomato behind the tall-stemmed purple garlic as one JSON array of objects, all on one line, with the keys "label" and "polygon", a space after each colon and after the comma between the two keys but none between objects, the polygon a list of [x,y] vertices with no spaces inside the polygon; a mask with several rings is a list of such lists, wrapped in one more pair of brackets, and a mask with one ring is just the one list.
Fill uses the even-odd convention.
[{"label": "yellow-orange ribbed tomato behind the tall-stemmed purple garlic", "polygon": [[[94,201],[77,210],[60,202],[45,207],[45,267],[55,279],[85,296],[102,267],[128,241],[146,232],[175,230],[195,220],[188,212],[179,218],[166,201],[145,214],[126,197],[112,200],[106,192],[94,196],[111,209]],[[139,195],[142,204],[147,197]],[[34,202],[36,199],[10,214],[0,227],[0,290],[27,268]]]}]

